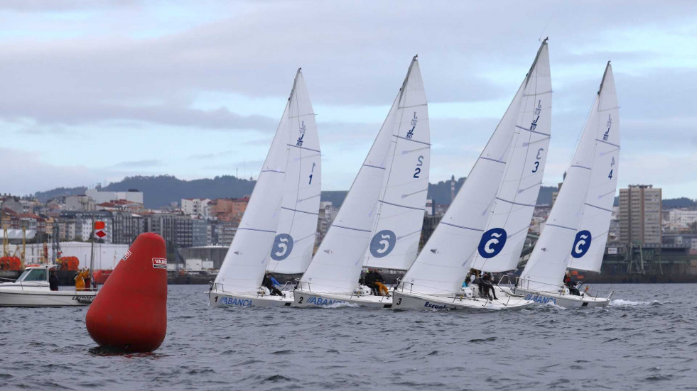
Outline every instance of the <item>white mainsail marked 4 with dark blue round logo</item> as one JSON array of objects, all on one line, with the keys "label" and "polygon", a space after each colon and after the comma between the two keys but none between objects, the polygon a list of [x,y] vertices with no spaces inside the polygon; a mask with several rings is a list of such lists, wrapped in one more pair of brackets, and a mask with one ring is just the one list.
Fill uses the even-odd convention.
[{"label": "white mainsail marked 4 with dark blue round logo", "polygon": [[[620,169],[620,109],[617,106],[615,78],[607,62],[598,97],[598,129],[595,138],[595,159],[590,185],[585,197],[583,219],[578,226],[578,243],[571,248],[570,268],[600,271],[612,218],[612,205],[617,192],[617,171]],[[603,131],[605,129],[605,131]],[[584,236],[586,236],[584,238]]]}]

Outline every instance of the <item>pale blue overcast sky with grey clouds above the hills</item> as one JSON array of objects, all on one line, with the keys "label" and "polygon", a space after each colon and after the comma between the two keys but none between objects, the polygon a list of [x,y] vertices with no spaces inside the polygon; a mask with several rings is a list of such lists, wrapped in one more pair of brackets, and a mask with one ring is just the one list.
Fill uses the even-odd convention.
[{"label": "pale blue overcast sky with grey clouds above the hills", "polygon": [[468,175],[549,35],[546,185],[605,62],[620,187],[697,198],[697,2],[0,2],[0,192],[256,175],[303,67],[324,189],[347,189],[418,53],[431,182]]}]

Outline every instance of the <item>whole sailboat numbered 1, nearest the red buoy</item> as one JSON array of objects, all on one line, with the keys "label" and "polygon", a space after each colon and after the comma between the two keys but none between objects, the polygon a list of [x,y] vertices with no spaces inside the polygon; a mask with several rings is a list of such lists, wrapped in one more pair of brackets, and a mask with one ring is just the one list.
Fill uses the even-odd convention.
[{"label": "whole sailboat numbered 1, nearest the red buoy", "polygon": [[[291,305],[290,291],[272,295],[261,282],[270,260],[277,263],[276,268],[294,270],[303,268],[311,255],[320,199],[320,158],[315,114],[298,70],[252,197],[208,292],[212,307]],[[290,265],[286,268],[283,263]]]}]

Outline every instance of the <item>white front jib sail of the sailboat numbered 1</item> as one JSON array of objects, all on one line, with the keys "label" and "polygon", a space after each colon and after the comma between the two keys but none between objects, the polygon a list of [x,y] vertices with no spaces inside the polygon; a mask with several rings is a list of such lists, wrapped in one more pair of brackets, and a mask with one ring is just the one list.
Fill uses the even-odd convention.
[{"label": "white front jib sail of the sailboat numbered 1", "polygon": [[279,189],[283,188],[288,166],[292,123],[290,117],[292,108],[298,106],[295,94],[298,76],[301,76],[300,72],[293,82],[291,96],[283,111],[279,128],[276,129],[276,136],[271,141],[264,165],[261,166],[252,197],[249,198],[220,272],[215,277],[217,289],[247,293],[256,292],[261,285],[269,250],[279,226],[279,208],[283,198],[283,192],[279,192]]}]

